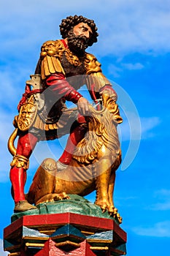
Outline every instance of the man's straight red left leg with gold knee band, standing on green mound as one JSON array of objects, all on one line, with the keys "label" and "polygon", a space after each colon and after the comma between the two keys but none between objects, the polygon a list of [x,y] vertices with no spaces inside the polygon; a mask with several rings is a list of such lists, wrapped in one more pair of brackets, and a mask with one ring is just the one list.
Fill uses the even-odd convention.
[{"label": "man's straight red left leg with gold knee band, standing on green mound", "polygon": [[35,208],[26,201],[24,186],[26,183],[28,159],[36,146],[37,141],[38,139],[30,133],[20,135],[18,138],[17,152],[12,160],[10,170],[10,180],[12,182],[12,192],[15,200],[15,212]]}]

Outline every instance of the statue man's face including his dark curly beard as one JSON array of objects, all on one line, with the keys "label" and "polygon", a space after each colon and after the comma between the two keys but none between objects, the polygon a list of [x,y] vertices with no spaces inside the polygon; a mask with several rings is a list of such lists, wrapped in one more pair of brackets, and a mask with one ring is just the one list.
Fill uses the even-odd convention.
[{"label": "statue man's face including his dark curly beard", "polygon": [[88,48],[88,40],[92,35],[90,26],[86,23],[79,23],[69,32],[67,37],[68,45],[72,52],[82,56]]}]

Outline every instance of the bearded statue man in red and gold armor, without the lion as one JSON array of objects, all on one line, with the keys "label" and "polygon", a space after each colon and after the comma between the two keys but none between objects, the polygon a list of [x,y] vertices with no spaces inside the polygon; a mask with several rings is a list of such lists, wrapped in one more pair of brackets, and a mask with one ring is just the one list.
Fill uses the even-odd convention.
[{"label": "bearded statue man in red and gold armor, without the lion", "polygon": [[[69,133],[66,148],[57,162],[58,170],[62,170],[69,165],[75,146],[85,136],[89,102],[77,90],[86,84],[93,101],[106,91],[117,98],[112,84],[101,71],[101,64],[95,56],[86,52],[97,42],[94,21],[81,15],[69,16],[62,20],[60,31],[62,39],[50,40],[42,45],[35,75],[26,82],[26,91],[18,105],[19,115],[14,121],[18,146],[9,146],[9,151],[14,155],[10,180],[15,212],[35,208],[26,200],[24,185],[28,159],[36,143]],[[73,102],[76,108],[66,108],[66,101]],[[26,109],[31,111],[31,115],[23,113]]]}]

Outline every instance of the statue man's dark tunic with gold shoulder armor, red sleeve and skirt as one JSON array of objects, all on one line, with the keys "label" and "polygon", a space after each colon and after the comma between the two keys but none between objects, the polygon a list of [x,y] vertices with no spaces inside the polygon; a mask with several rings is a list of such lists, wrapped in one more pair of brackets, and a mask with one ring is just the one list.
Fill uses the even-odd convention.
[{"label": "statue man's dark tunic with gold shoulder armor, red sleeve and skirt", "polygon": [[[47,41],[42,45],[35,73],[41,75],[42,88],[30,94],[31,98],[27,97],[28,93],[26,102],[31,101],[38,106],[29,132],[39,140],[50,140],[69,133],[70,124],[77,117],[77,108],[68,109],[65,102],[68,100],[76,104],[82,97],[77,91],[81,86],[87,85],[92,99],[98,98],[99,92],[106,86],[112,89],[96,57],[90,53],[76,56],[63,39]],[[39,107],[40,99],[44,102],[43,108]]]}]

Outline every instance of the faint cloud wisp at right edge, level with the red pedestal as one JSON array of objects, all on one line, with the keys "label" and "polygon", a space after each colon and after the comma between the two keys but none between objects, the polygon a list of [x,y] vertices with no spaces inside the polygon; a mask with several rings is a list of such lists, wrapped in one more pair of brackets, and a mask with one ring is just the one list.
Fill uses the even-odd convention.
[{"label": "faint cloud wisp at right edge, level with the red pedestal", "polygon": [[148,227],[134,227],[132,231],[139,236],[170,238],[170,221],[158,222]]}]

